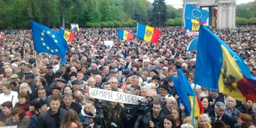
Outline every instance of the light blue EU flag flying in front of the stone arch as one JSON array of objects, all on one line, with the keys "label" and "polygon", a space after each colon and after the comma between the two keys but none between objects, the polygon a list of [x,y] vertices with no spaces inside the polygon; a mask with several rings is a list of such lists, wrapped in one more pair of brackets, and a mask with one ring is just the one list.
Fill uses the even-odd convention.
[{"label": "light blue EU flag flying in front of the stone arch", "polygon": [[197,19],[199,22],[207,22],[208,18],[208,11],[205,11],[203,9],[200,9],[196,6],[186,4],[185,5],[185,12],[184,17],[190,18],[190,19]]}]

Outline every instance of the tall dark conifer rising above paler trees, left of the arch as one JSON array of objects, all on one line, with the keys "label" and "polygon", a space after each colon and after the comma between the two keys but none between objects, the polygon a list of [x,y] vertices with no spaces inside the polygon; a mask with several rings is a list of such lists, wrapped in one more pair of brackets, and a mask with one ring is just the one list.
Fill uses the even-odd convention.
[{"label": "tall dark conifer rising above paler trees, left of the arch", "polygon": [[155,0],[152,4],[152,16],[150,24],[152,26],[164,26],[166,22],[166,5],[164,0]]}]

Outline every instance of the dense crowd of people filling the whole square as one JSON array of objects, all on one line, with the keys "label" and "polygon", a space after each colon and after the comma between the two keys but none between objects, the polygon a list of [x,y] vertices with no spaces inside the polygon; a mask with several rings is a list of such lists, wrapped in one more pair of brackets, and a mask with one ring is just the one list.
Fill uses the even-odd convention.
[{"label": "dense crowd of people filling the whole square", "polygon": [[[5,36],[0,40],[0,126],[255,127],[255,103],[193,83],[197,54],[186,48],[194,36],[180,27],[162,27],[158,44],[152,44],[136,38],[136,28],[123,29],[133,33],[130,41],[118,39],[117,28],[81,28],[69,42],[66,65],[60,65],[58,56],[35,54],[31,30],[0,30]],[[210,30],[256,76],[256,27]],[[113,46],[105,46],[107,40],[113,40]],[[177,77],[177,69],[201,98],[204,114],[195,120],[185,113],[170,77]],[[139,95],[151,102],[141,112],[142,105],[94,99],[90,88]]]}]

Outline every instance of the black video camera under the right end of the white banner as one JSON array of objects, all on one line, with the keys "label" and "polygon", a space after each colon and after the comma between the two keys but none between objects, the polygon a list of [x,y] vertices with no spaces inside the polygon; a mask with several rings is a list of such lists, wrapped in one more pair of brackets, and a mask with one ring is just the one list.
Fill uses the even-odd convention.
[{"label": "black video camera under the right end of the white banner", "polygon": [[139,101],[139,108],[137,109],[137,113],[140,116],[146,115],[146,113],[151,112],[153,108],[153,104],[151,103],[154,99],[150,98],[147,101]]}]

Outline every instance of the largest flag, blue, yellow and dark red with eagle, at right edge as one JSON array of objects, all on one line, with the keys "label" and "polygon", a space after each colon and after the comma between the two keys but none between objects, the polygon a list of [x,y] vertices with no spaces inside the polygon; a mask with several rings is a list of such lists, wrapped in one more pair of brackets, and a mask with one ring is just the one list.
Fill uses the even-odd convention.
[{"label": "largest flag, blue, yellow and dark red with eagle, at right edge", "polygon": [[194,82],[237,100],[256,102],[256,77],[251,76],[250,69],[238,54],[202,25]]}]

